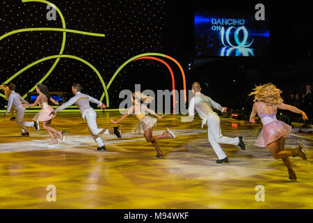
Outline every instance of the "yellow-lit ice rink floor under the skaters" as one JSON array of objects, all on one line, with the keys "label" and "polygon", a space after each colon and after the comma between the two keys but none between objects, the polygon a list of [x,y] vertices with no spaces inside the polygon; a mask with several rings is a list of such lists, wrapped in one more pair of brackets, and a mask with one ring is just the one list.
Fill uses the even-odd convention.
[{"label": "yellow-lit ice rink floor under the skaters", "polygon": [[[26,114],[31,120],[34,114]],[[98,113],[99,127],[115,126],[116,112]],[[282,160],[267,148],[253,146],[261,125],[222,119],[225,136],[243,134],[247,151],[222,145],[230,163],[217,165],[200,119],[181,123],[168,115],[154,134],[166,127],[176,139],[158,141],[164,160],[143,136],[131,133],[136,123],[129,116],[122,139],[103,136],[106,152],[88,135],[79,113],[58,114],[52,125],[67,130],[65,142],[49,148],[45,130],[20,136],[15,122],[0,118],[0,208],[313,208],[311,133],[293,133],[287,150],[303,143],[309,160],[292,158],[298,182],[289,180]],[[233,124],[232,124],[233,123]],[[56,201],[48,202],[47,185],[55,185]],[[255,187],[263,185],[265,201],[255,201]]]}]

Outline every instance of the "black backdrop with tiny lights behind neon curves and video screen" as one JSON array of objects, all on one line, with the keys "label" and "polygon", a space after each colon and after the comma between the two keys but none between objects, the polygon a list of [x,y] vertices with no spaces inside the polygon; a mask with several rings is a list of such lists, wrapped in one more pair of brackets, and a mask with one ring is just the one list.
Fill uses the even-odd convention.
[{"label": "black backdrop with tiny lights behind neon curves and video screen", "polygon": [[[71,54],[90,62],[99,70],[106,84],[115,70],[132,56],[146,52],[168,54],[182,64],[191,82],[199,81],[205,93],[220,102],[230,103],[234,95],[247,93],[254,84],[274,82],[286,93],[304,91],[312,82],[313,17],[305,2],[262,1],[271,31],[270,53],[249,58],[197,59],[193,56],[194,10],[254,10],[259,1],[52,1],[65,17],[67,29],[104,33],[104,38],[67,33],[63,54]],[[47,21],[46,5],[0,2],[0,35],[31,27],[61,28],[61,19]],[[56,55],[61,49],[62,33],[38,31],[19,33],[0,41],[0,82],[18,70],[45,56]],[[311,55],[311,56],[310,56]],[[54,59],[33,66],[16,77],[17,91],[26,93],[51,68]],[[174,63],[170,63],[177,89],[182,79]],[[191,69],[188,68],[191,63]],[[83,91],[95,98],[103,89],[95,72],[73,59],[61,59],[44,82],[50,91],[67,91],[72,82],[83,85]],[[109,88],[111,107],[118,107],[122,89],[171,89],[167,68],[157,61],[134,61],[124,68]],[[238,93],[234,93],[238,92]],[[0,98],[0,106],[6,101]]]}]

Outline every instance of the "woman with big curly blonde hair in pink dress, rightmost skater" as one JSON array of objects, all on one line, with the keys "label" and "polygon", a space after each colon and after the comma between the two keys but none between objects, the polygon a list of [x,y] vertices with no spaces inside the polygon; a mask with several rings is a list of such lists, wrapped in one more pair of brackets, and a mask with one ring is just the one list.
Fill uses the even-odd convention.
[{"label": "woman with big curly blonde hair in pink dress, rightmost skater", "polygon": [[257,137],[255,146],[266,147],[268,146],[271,155],[275,159],[282,159],[284,165],[288,169],[289,179],[296,180],[296,173],[291,167],[289,157],[301,157],[303,160],[307,160],[307,156],[302,150],[301,146],[294,148],[293,151],[284,150],[284,139],[291,132],[291,126],[278,121],[276,118],[277,109],[286,109],[291,112],[302,114],[303,120],[307,119],[307,115],[297,109],[294,106],[286,105],[280,98],[280,89],[277,89],[274,84],[264,84],[257,86],[253,89],[250,95],[255,95],[255,104],[253,105],[252,112],[250,114],[250,122],[255,123],[253,118],[256,114],[261,118],[263,129]]}]

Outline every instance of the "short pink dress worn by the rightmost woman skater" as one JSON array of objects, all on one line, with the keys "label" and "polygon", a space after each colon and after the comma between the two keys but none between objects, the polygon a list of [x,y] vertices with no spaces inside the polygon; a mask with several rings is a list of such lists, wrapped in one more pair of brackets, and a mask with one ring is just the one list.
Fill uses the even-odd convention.
[{"label": "short pink dress worn by the rightmost woman skater", "polygon": [[266,114],[263,111],[262,105],[265,105],[264,102],[256,102],[255,105],[257,115],[261,118],[263,124],[263,128],[259,133],[259,137],[257,137],[255,146],[266,147],[268,144],[271,144],[271,142],[276,141],[281,137],[288,137],[288,134],[291,132],[291,126],[277,120],[277,105],[273,105],[275,108],[274,114]]}]

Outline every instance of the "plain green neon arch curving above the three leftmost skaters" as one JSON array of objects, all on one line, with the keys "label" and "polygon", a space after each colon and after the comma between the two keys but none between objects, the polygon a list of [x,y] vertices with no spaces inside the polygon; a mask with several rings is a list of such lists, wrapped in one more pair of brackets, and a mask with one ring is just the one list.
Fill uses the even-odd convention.
[{"label": "plain green neon arch curving above the three leftmost skaters", "polygon": [[[51,59],[60,59],[60,58],[70,58],[70,59],[76,59],[77,61],[81,61],[82,63],[85,63],[87,66],[89,66],[91,69],[93,69],[95,71],[95,73],[98,75],[100,82],[102,83],[103,89],[104,89],[104,93],[106,95],[106,106],[109,107],[109,95],[108,95],[108,91],[106,88],[106,84],[104,83],[104,80],[102,78],[102,76],[100,75],[99,71],[88,61],[85,61],[84,59],[81,59],[77,56],[72,56],[72,55],[54,55],[54,56],[47,56],[45,58],[42,58],[38,61],[35,61],[31,64],[29,64],[28,66],[24,67],[22,70],[19,70],[18,72],[16,72],[12,77],[10,77],[9,79],[6,80],[6,82],[4,82],[4,84],[7,84],[8,82],[10,82],[11,80],[13,80],[15,77],[17,77],[18,75],[20,75],[22,72],[24,72],[25,70],[28,70],[29,68],[35,66],[38,63],[41,63],[43,61],[47,61],[47,60],[51,60]],[[100,101],[103,100],[104,97],[102,97],[100,99]]]}]

